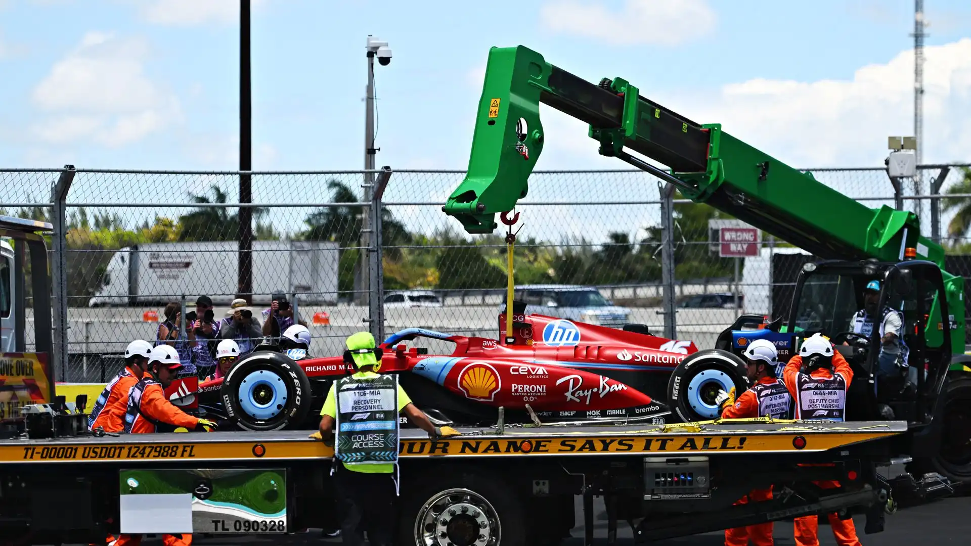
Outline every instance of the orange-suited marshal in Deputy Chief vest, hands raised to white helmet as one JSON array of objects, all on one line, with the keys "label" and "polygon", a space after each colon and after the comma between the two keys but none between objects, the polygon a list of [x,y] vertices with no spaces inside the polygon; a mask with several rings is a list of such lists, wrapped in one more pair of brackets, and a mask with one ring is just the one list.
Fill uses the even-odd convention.
[{"label": "orange-suited marshal in Deputy Chief vest, hands raised to white helmet", "polygon": [[[820,333],[803,340],[799,354],[790,358],[783,370],[783,382],[795,401],[795,418],[801,421],[845,421],[847,390],[852,381],[850,362]],[[814,483],[821,489],[840,486],[837,481]],[[860,546],[853,519],[841,520],[835,512],[827,518],[837,544]],[[795,518],[796,546],[819,546],[819,525],[816,516]]]}]

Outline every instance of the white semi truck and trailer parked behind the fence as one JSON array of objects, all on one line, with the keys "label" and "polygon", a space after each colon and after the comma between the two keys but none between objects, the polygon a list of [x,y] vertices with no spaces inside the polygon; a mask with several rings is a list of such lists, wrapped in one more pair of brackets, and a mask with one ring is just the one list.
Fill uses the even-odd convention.
[{"label": "white semi truck and trailer parked behind the fence", "polygon": [[[103,285],[88,306],[164,305],[183,295],[208,295],[217,305],[237,290],[238,243],[149,243],[120,249],[108,262]],[[252,302],[277,291],[299,293],[299,303],[337,301],[338,245],[327,241],[254,241]],[[68,272],[70,275],[70,272]]]}]

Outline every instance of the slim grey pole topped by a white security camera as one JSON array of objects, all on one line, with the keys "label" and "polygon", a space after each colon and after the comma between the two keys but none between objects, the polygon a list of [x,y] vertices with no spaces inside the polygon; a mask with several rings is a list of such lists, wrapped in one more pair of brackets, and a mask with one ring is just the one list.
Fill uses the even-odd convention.
[{"label": "slim grey pole topped by a white security camera", "polygon": [[[365,90],[366,98],[364,100],[364,170],[368,172],[364,173],[364,182],[361,186],[364,189],[363,202],[371,203],[372,191],[374,189],[374,173],[372,171],[374,171],[375,154],[378,153],[378,149],[374,147],[374,59],[378,57],[378,62],[382,66],[387,66],[391,62],[391,49],[387,47],[387,42],[382,42],[370,34],[367,36],[366,49],[367,88]],[[373,222],[371,222],[372,214],[374,214],[374,211],[371,208],[361,208],[361,256],[358,267],[359,271],[355,276],[358,282],[356,297],[354,298],[358,305],[367,304],[370,299],[368,294],[371,291],[371,275],[368,272],[368,268],[370,267],[371,258],[368,249],[371,248],[371,237],[374,236],[374,233],[371,232],[373,226]],[[381,297],[381,295],[378,297]]]}]

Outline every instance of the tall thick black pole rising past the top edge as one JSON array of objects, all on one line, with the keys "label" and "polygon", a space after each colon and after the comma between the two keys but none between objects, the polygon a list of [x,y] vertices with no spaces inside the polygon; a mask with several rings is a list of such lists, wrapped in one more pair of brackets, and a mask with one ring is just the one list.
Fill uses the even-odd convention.
[{"label": "tall thick black pole rising past the top edge", "polygon": [[[250,81],[250,0],[240,0],[240,204],[252,202],[252,101]],[[240,207],[236,297],[252,303],[252,209]]]}]

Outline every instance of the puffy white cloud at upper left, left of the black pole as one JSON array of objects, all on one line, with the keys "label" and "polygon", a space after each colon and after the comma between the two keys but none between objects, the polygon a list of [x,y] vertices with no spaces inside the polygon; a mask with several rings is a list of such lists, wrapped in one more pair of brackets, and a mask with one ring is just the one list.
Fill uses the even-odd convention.
[{"label": "puffy white cloud at upper left, left of the black pole", "polygon": [[34,134],[49,143],[92,139],[119,147],[182,119],[178,98],[145,74],[148,44],[89,32],[54,63],[32,100],[48,117]]}]

